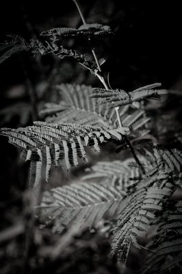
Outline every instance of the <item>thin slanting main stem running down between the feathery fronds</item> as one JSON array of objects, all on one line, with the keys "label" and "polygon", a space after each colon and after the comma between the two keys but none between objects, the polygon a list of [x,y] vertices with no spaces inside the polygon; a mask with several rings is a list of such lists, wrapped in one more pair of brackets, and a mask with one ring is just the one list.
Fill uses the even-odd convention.
[{"label": "thin slanting main stem running down between the feathery fronds", "polygon": [[[79,15],[81,16],[81,20],[83,21],[83,25],[86,25],[86,18],[83,16],[83,13],[81,12],[81,8],[79,6],[79,1],[78,0],[73,0],[73,1],[74,1],[75,5],[77,6],[77,9],[79,11]],[[103,73],[101,71],[101,66],[99,64],[99,60],[96,57],[96,53],[95,53],[93,47],[92,47],[92,54],[94,56],[94,60],[96,62],[97,68],[99,70],[99,73],[95,73],[95,75],[99,78],[99,80],[101,81],[101,83],[103,84],[103,86],[105,87],[105,89],[108,90],[109,87],[107,86],[107,84],[105,82],[105,79],[103,77]],[[119,114],[119,111],[118,111],[119,107],[116,107],[115,110],[116,110],[116,115],[117,115],[119,126],[122,127],[122,122],[120,120],[120,114]],[[127,143],[127,146],[129,147],[131,153],[133,154],[133,158],[135,159],[136,163],[138,164],[138,166],[140,166],[140,169],[142,170],[142,172],[145,173],[144,167],[140,163],[140,160],[138,159],[138,157],[137,157],[137,155],[135,153],[135,150],[133,149],[133,146],[131,145],[131,142],[129,141],[129,139],[127,138],[127,136],[123,135],[123,138],[124,138],[125,142]]]}]

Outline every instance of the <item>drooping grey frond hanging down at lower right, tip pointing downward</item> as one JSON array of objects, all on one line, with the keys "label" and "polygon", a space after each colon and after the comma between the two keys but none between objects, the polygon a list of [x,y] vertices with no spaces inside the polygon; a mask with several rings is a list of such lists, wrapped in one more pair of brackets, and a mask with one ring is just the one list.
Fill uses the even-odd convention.
[{"label": "drooping grey frond hanging down at lower right, tip pointing downward", "polygon": [[137,237],[146,233],[151,220],[156,218],[157,212],[163,210],[163,204],[176,188],[175,184],[170,183],[169,178],[169,174],[161,179],[154,175],[151,186],[144,187],[144,182],[141,185],[139,183],[137,191],[133,191],[133,194],[127,197],[125,208],[118,217],[112,242],[112,253],[117,253],[118,262],[126,264],[131,245],[141,248]]}]

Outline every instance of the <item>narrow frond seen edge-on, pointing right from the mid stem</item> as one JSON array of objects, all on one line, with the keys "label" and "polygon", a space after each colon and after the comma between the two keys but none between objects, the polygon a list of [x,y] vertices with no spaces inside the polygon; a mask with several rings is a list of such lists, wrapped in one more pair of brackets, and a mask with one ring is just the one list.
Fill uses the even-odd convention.
[{"label": "narrow frond seen edge-on, pointing right from the mid stem", "polygon": [[141,101],[144,98],[159,99],[161,94],[166,94],[166,90],[155,90],[153,88],[161,86],[161,84],[151,84],[127,92],[125,90],[105,90],[104,88],[93,88],[94,93],[91,98],[99,98],[99,105],[105,105],[107,108],[116,108],[121,105],[131,104],[135,101]]}]

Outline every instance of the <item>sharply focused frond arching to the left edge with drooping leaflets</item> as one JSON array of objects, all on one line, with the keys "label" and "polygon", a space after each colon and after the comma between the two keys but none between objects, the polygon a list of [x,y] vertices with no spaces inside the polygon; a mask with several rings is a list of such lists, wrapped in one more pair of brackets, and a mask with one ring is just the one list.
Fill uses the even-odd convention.
[{"label": "sharply focused frond arching to the left edge with drooping leaflets", "polygon": [[9,142],[23,150],[23,158],[31,160],[31,186],[48,181],[51,166],[69,170],[77,166],[78,159],[87,161],[86,146],[100,151],[99,145],[108,140],[122,140],[128,129],[109,129],[89,125],[34,122],[31,127],[0,129]]}]

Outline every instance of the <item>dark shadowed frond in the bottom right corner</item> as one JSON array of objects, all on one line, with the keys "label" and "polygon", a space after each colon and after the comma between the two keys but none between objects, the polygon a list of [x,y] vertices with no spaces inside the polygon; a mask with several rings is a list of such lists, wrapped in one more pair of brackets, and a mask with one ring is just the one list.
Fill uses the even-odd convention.
[{"label": "dark shadowed frond in the bottom right corner", "polygon": [[[142,274],[171,271],[182,262],[182,201],[159,218],[159,232],[150,245]],[[182,268],[182,267],[181,267]]]}]

